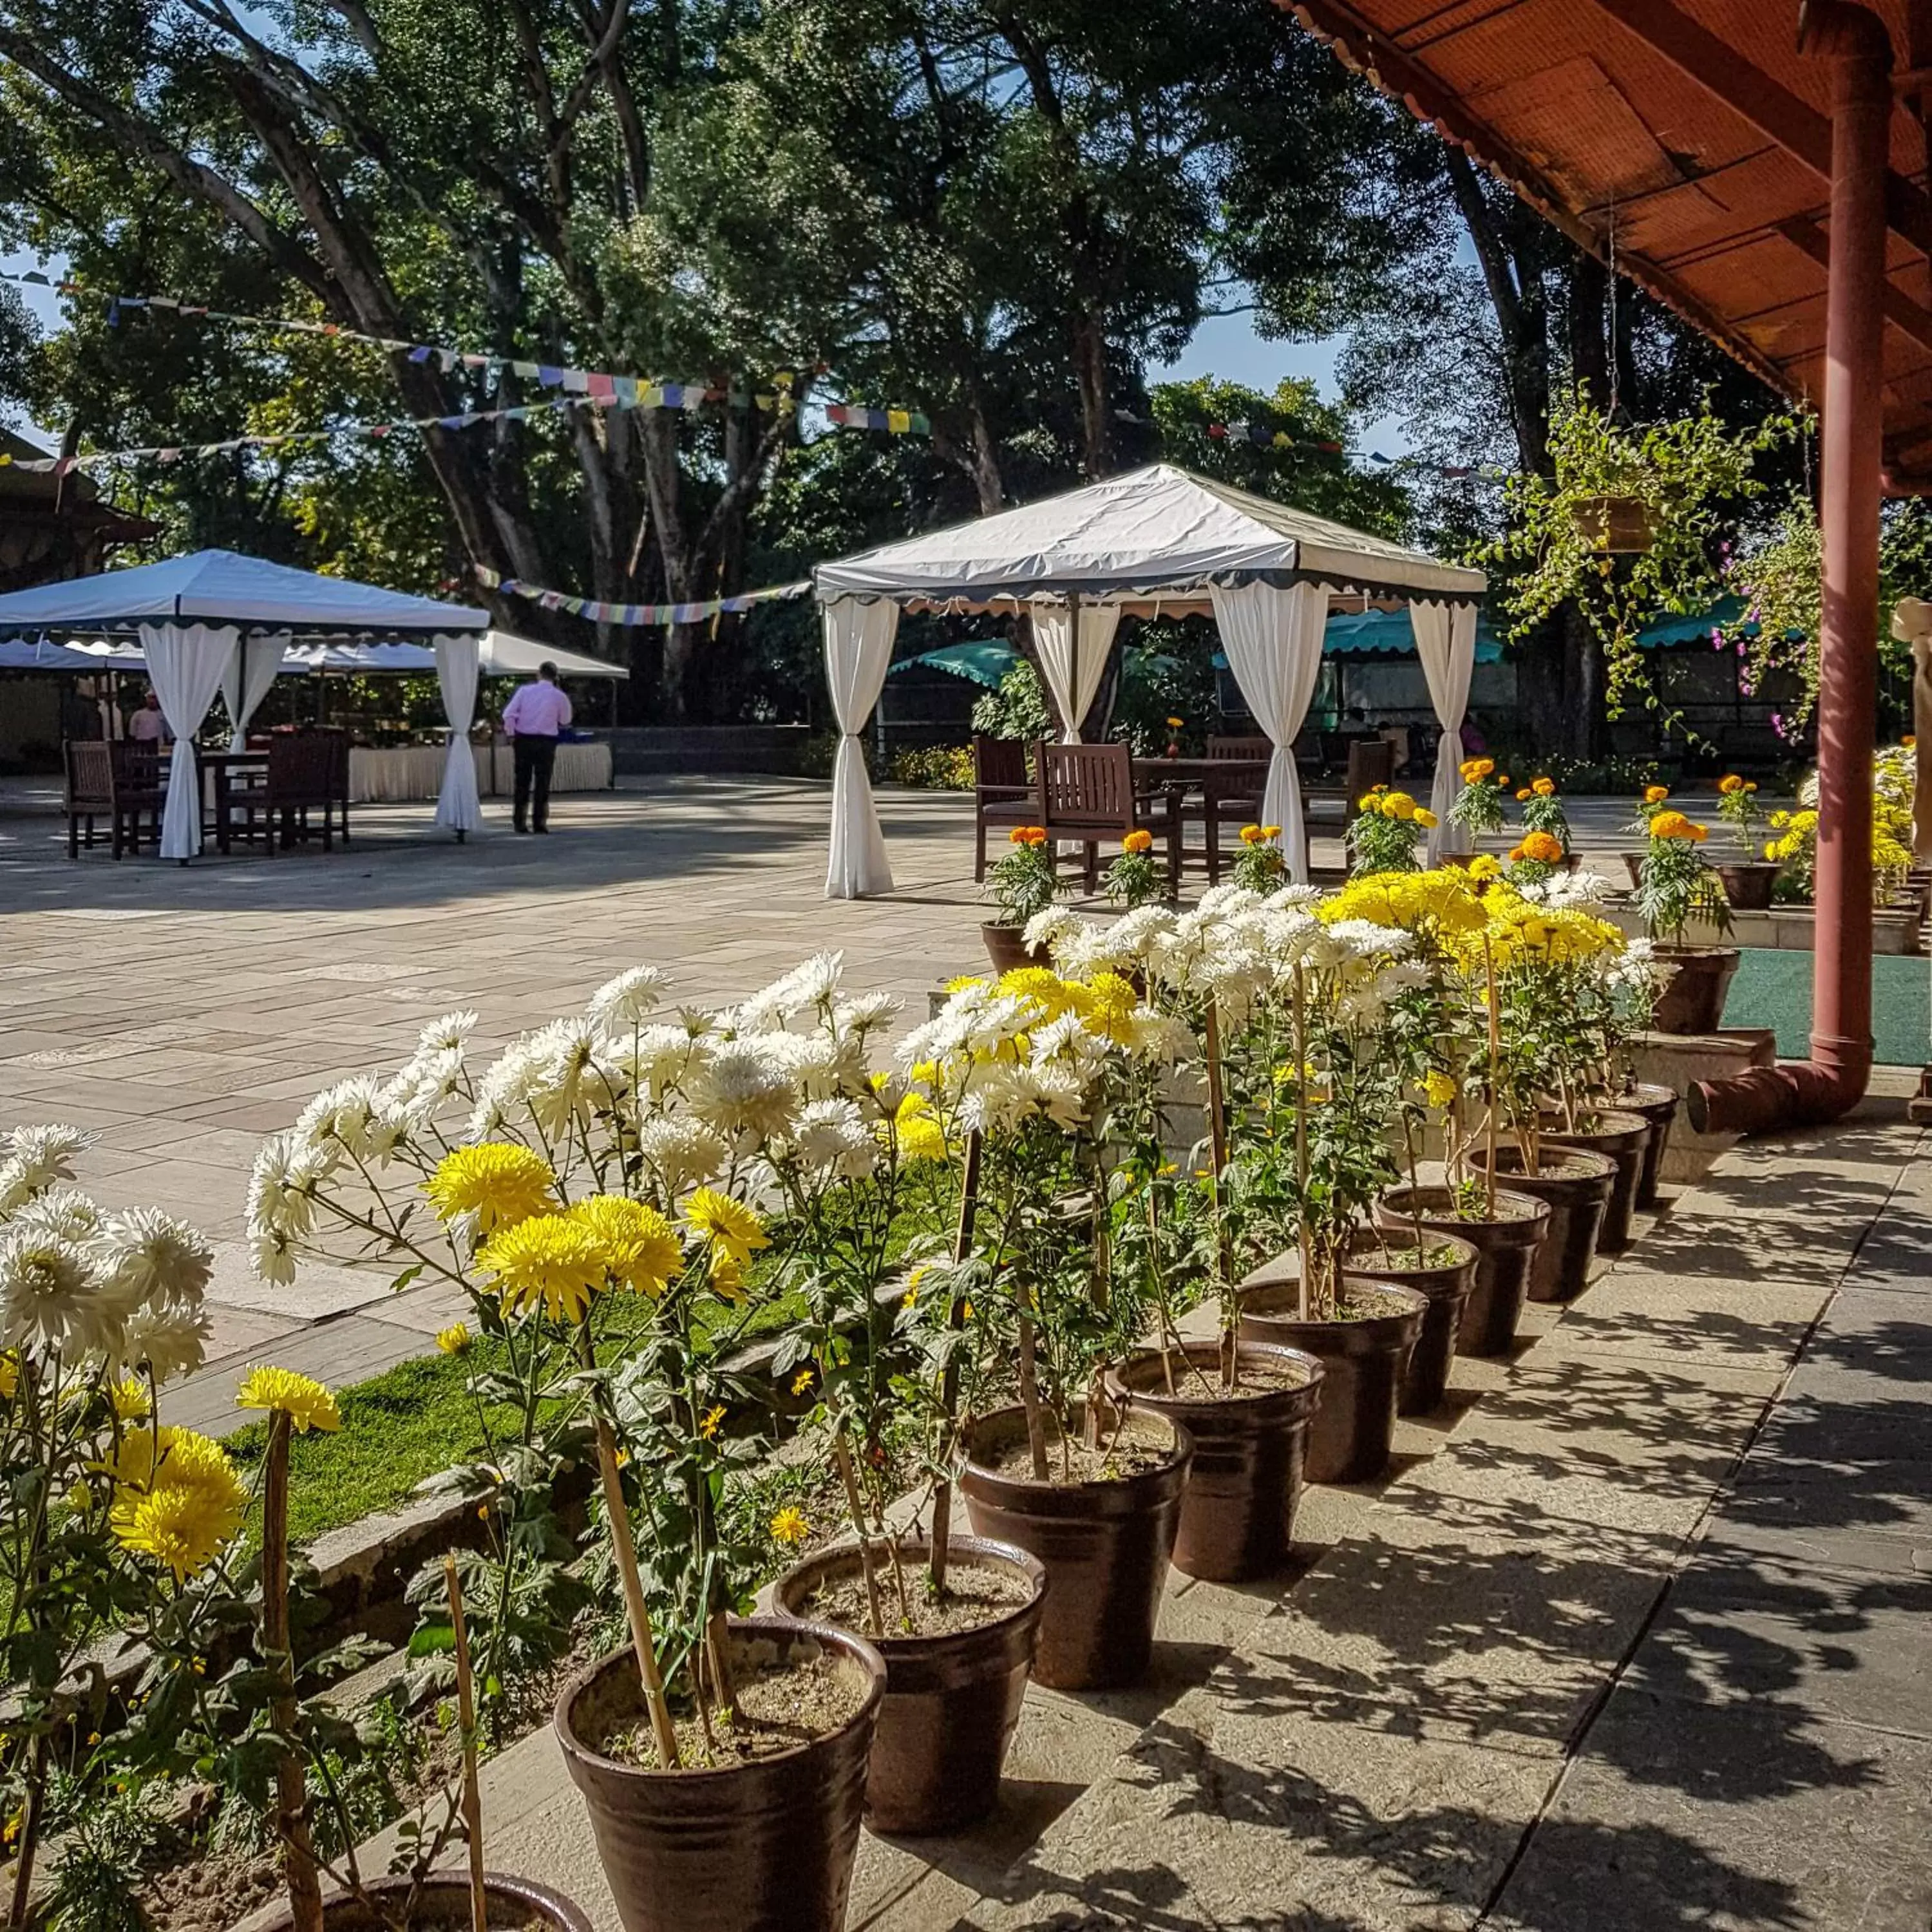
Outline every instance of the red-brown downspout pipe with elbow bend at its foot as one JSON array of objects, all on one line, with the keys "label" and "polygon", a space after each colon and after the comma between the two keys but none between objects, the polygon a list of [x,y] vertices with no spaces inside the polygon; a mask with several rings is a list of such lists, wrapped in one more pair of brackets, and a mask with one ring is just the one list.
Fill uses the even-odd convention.
[{"label": "red-brown downspout pipe with elbow bend at its foot", "polygon": [[1810,1059],[1696,1082],[1687,1113],[1698,1132],[1818,1126],[1855,1107],[1872,1076],[1872,740],[1891,41],[1864,6],[1804,0],[1799,46],[1833,70]]}]

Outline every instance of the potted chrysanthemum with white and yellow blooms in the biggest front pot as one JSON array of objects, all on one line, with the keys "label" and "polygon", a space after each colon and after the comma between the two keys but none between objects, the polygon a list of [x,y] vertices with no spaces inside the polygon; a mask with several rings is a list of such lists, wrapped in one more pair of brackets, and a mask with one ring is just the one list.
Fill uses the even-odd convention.
[{"label": "potted chrysanthemum with white and yellow blooms in the biggest front pot", "polygon": [[[690,1926],[694,1901],[697,1922],[738,1924],[784,1901],[784,1924],[835,1928],[885,1669],[825,1625],[732,1621],[755,1584],[730,1524],[757,1449],[724,1426],[767,1302],[757,1148],[829,1074],[742,1009],[657,1022],[657,1001],[638,968],[473,1082],[433,1063],[323,1095],[265,1155],[298,1186],[278,1180],[272,1206],[259,1188],[257,1240],[276,1265],[348,1231],[462,1287],[508,1387],[574,1418],[630,1646],[566,1687],[556,1731],[626,1924]],[[883,1018],[867,1012],[846,1020],[860,1066]]]}]

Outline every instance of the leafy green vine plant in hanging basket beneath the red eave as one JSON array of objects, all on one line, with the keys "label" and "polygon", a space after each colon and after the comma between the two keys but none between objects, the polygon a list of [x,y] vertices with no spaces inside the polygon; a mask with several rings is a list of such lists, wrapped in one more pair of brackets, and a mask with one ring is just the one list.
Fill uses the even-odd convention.
[{"label": "leafy green vine plant in hanging basket beneath the red eave", "polygon": [[1638,696],[1656,709],[1638,630],[1721,595],[1721,541],[1739,504],[1764,493],[1754,464],[1803,429],[1793,415],[1737,429],[1712,413],[1708,396],[1696,415],[1629,427],[1575,390],[1559,392],[1553,475],[1509,479],[1509,527],[1478,556],[1503,580],[1505,634],[1524,638],[1577,603],[1604,643],[1609,715],[1621,717]]}]

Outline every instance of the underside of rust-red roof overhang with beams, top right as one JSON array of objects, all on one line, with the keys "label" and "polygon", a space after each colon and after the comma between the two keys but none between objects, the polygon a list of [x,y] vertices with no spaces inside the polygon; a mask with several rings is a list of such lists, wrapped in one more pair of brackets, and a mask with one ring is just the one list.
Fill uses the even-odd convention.
[{"label": "underside of rust-red roof overhang with beams, top right", "polygon": [[[1575,240],[1791,396],[1824,386],[1832,66],[1797,0],[1283,0]],[[1932,0],[1872,0],[1891,129],[1886,456],[1932,489]]]}]

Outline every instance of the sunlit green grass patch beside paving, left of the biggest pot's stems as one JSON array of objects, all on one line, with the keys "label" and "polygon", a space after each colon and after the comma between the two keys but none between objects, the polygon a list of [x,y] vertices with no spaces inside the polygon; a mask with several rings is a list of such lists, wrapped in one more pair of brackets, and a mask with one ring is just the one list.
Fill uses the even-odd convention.
[{"label": "sunlit green grass patch beside paving, left of the biggest pot's stems", "polygon": [[[429,1354],[338,1391],[340,1435],[298,1435],[290,1445],[288,1528],[298,1546],[357,1517],[394,1509],[429,1476],[483,1451],[469,1376],[489,1360],[487,1343],[468,1356]],[[493,1424],[514,1432],[504,1408]],[[253,1476],[269,1447],[269,1426],[253,1422],[226,1437],[236,1464]],[[251,1534],[259,1534],[251,1526]]]}]

